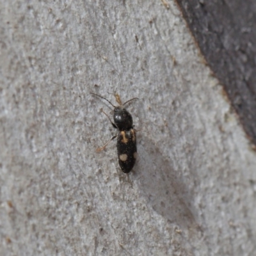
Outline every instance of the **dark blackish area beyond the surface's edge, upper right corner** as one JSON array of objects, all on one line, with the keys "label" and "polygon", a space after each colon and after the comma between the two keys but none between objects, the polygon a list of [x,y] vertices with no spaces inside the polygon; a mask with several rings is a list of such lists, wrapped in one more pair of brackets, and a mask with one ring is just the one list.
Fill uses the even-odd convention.
[{"label": "dark blackish area beyond the surface's edge, upper right corner", "polygon": [[256,2],[176,0],[244,130],[256,145]]}]

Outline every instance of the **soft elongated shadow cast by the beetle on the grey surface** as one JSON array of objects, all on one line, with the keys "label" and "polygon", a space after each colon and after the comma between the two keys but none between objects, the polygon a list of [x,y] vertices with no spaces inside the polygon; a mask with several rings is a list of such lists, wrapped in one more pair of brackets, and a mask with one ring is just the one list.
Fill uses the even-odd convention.
[{"label": "soft elongated shadow cast by the beetle on the grey surface", "polygon": [[134,168],[135,175],[138,175],[141,195],[148,205],[182,232],[202,237],[193,194],[186,188],[180,173],[173,170],[172,161],[164,159],[150,140],[143,141],[138,152],[141,157]]}]

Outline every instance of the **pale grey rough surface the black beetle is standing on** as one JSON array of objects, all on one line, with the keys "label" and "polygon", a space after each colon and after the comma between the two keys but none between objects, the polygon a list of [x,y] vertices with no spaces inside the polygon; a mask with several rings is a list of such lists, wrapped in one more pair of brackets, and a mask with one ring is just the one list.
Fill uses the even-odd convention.
[{"label": "pale grey rough surface the black beetle is standing on", "polygon": [[[255,151],[168,3],[0,2],[0,255],[255,255]],[[89,92],[140,98],[128,176]]]}]

